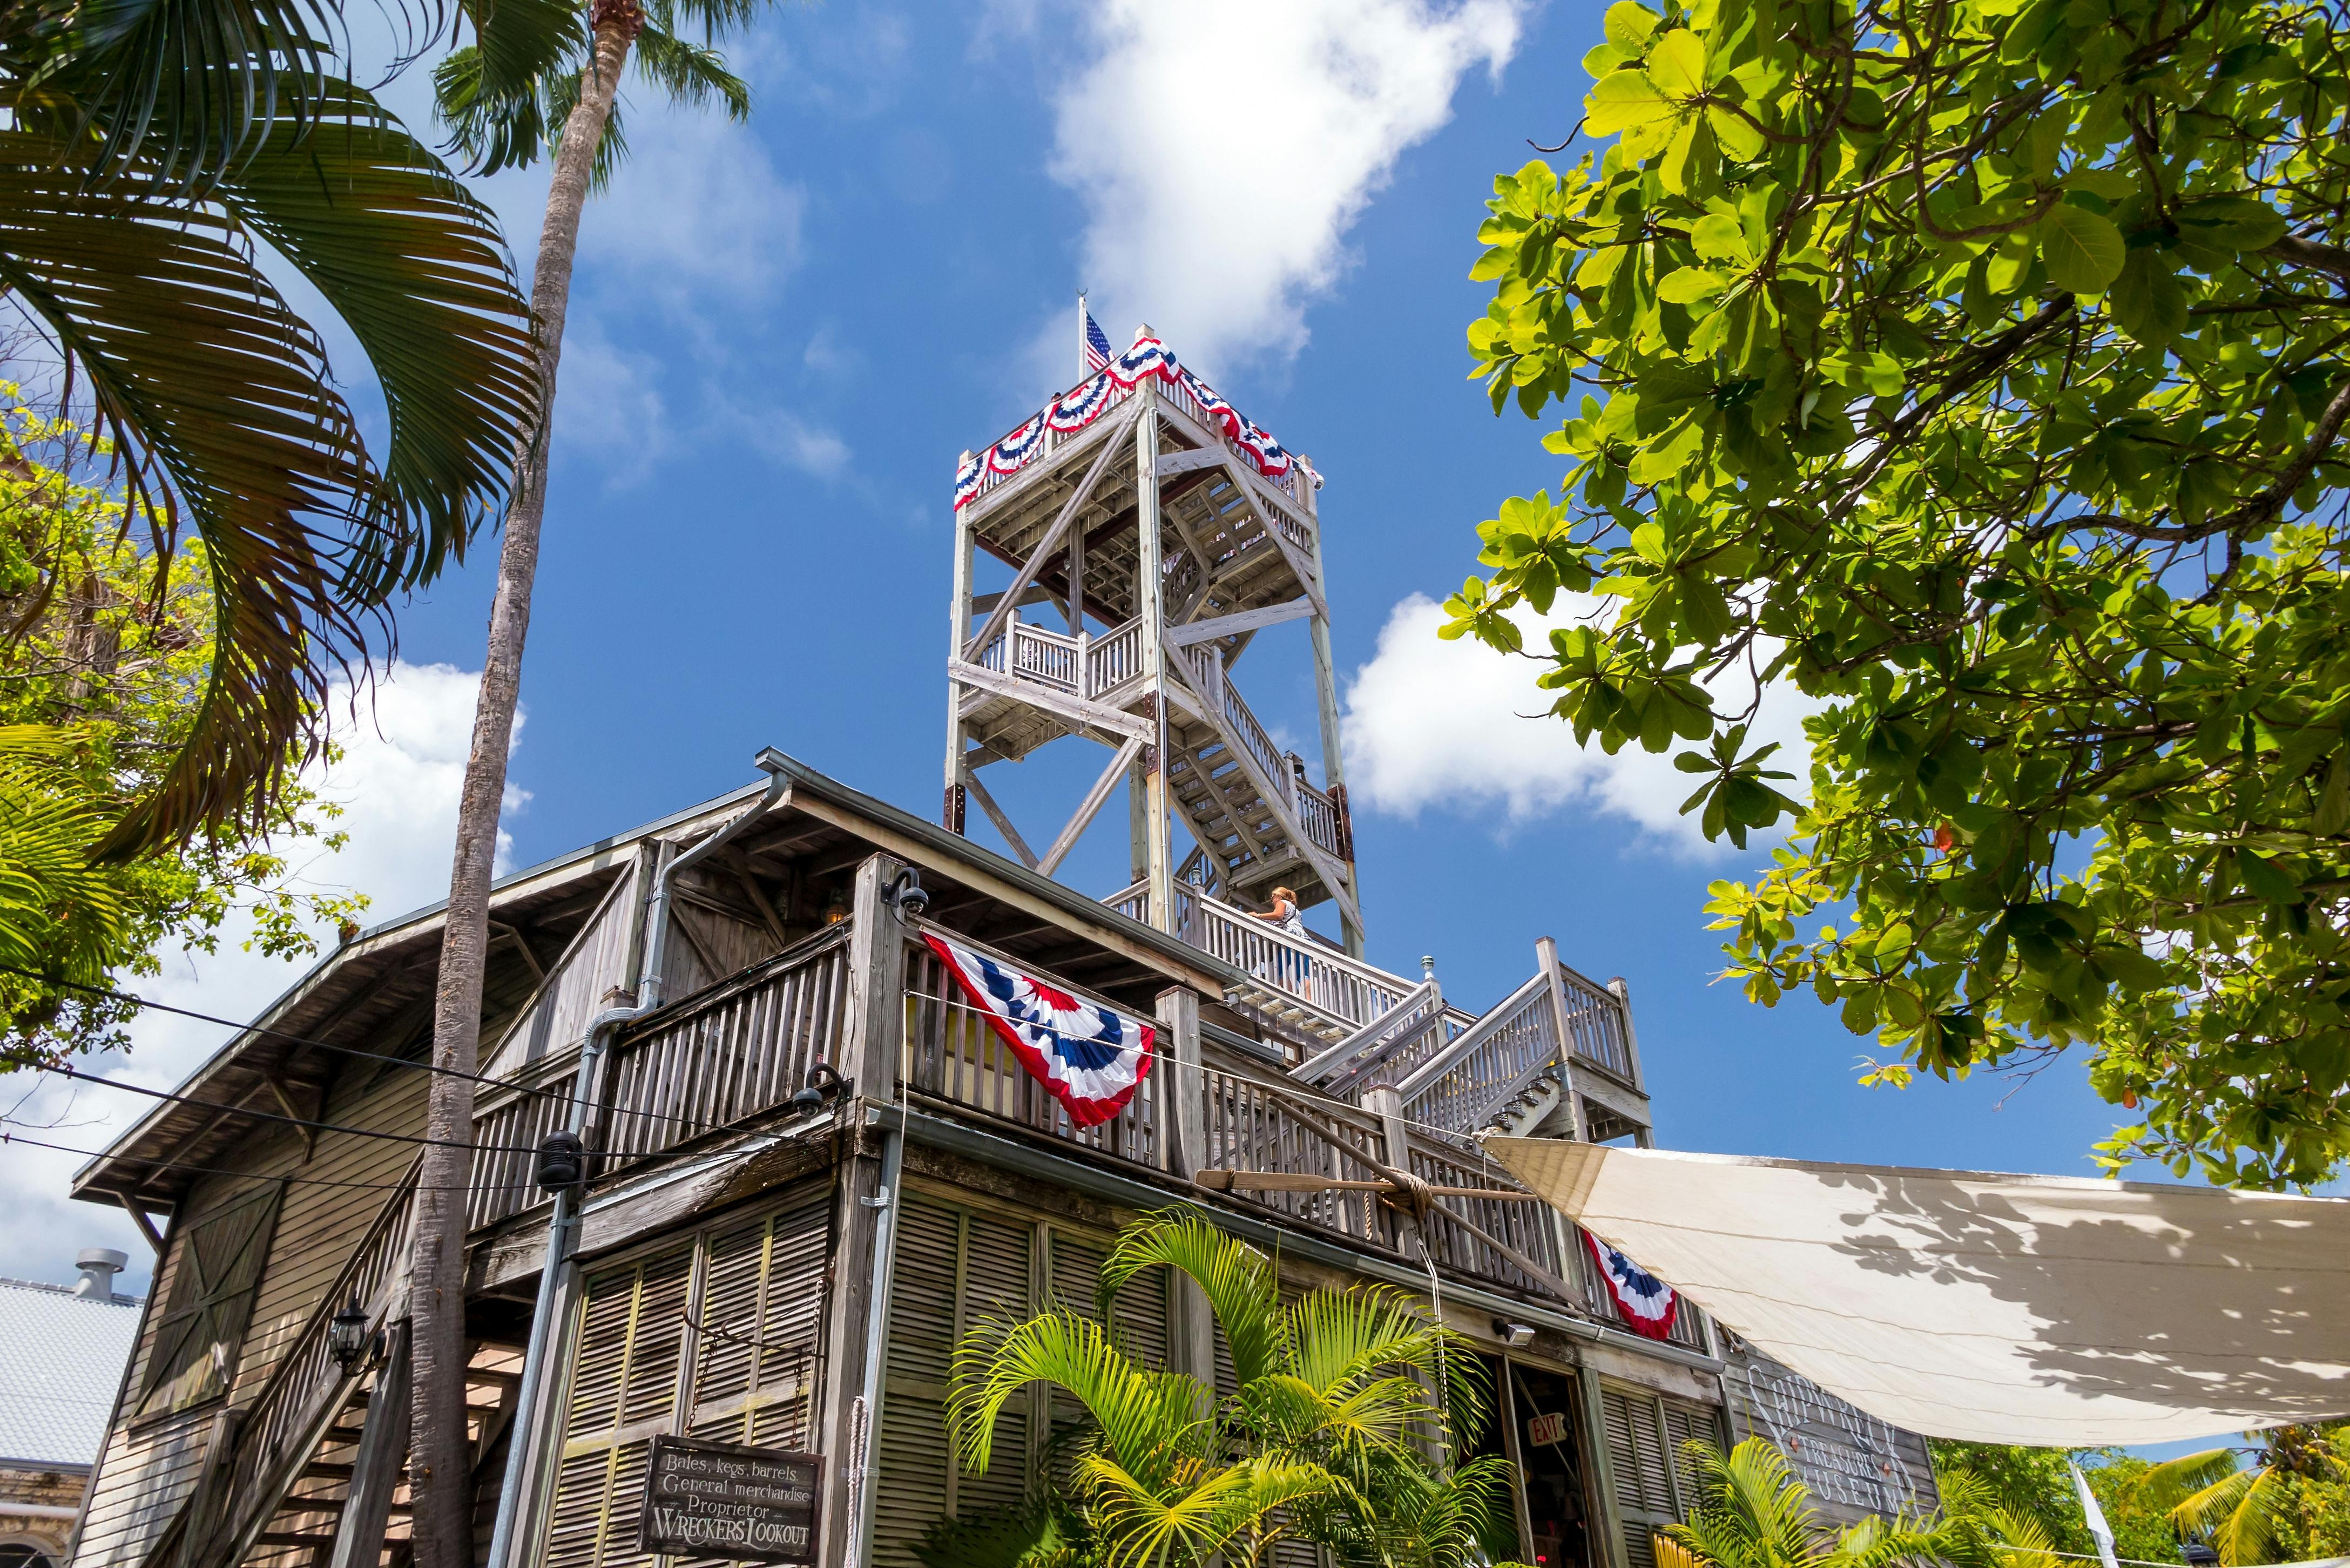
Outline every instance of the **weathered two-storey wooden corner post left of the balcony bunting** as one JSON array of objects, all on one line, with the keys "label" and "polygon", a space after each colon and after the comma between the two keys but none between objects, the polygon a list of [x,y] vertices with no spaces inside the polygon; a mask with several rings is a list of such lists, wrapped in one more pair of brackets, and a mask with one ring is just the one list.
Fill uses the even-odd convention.
[{"label": "weathered two-storey wooden corner post left of the balcony bunting", "polygon": [[[905,922],[881,896],[898,870],[898,860],[888,856],[867,856],[858,865],[848,905],[853,922],[848,931],[848,1030],[841,1039],[841,1060],[834,1067],[855,1086],[855,1093],[839,1107],[853,1128],[844,1140],[846,1168],[834,1213],[839,1251],[834,1253],[832,1298],[839,1309],[825,1326],[825,1385],[818,1399],[820,1439],[815,1448],[825,1455],[818,1523],[822,1568],[853,1568],[846,1559],[848,1547],[870,1549],[870,1542],[851,1540],[858,1535],[851,1514],[851,1472],[862,1467],[870,1488],[881,1453],[879,1410],[865,1408],[867,1420],[860,1422],[858,1401],[865,1396],[867,1382],[865,1340],[872,1314],[888,1312],[888,1302],[872,1300],[881,1204],[898,1201],[898,1194],[881,1192],[879,1138],[874,1128],[865,1126],[865,1112],[898,1098],[898,1063],[905,1048]],[[895,1117],[895,1110],[884,1114]],[[860,1436],[862,1450],[858,1448]]]}]

